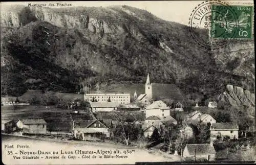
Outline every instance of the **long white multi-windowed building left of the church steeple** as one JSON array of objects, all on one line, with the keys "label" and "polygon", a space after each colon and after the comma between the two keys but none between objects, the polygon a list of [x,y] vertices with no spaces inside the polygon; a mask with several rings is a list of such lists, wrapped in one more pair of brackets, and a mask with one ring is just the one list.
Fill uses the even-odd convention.
[{"label": "long white multi-windowed building left of the church steeple", "polygon": [[92,102],[116,102],[121,105],[129,104],[131,102],[130,93],[86,93],[84,100]]}]

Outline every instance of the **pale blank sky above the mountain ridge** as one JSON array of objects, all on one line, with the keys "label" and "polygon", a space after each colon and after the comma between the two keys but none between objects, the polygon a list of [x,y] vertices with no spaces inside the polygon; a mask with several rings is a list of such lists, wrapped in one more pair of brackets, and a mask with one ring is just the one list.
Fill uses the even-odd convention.
[{"label": "pale blank sky above the mountain ridge", "polygon": [[[71,4],[72,6],[87,6],[87,7],[107,7],[112,5],[127,5],[140,9],[147,10],[152,14],[169,21],[174,21],[188,25],[189,16],[193,9],[204,1],[87,1],[87,2],[72,2],[72,1],[54,1],[54,2],[5,2],[5,4],[19,4],[28,6],[31,4],[49,4],[62,3]],[[250,2],[253,1],[233,1],[233,2]],[[2,3],[1,3],[2,4]],[[4,3],[3,3],[4,4]],[[2,4],[2,5],[3,5]],[[1,5],[1,6],[2,6]],[[48,6],[49,7],[49,6]]]}]

